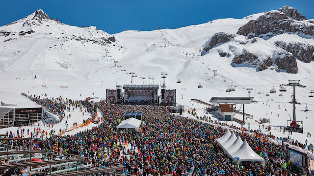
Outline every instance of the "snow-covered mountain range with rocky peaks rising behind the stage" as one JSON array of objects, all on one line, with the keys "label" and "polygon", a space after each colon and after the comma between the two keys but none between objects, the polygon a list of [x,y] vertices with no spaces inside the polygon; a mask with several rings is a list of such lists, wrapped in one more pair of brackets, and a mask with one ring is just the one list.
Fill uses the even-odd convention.
[{"label": "snow-covered mountain range with rocky peaks rising behind the stage", "polygon": [[[276,14],[312,26],[311,20],[285,6],[243,19],[111,35],[95,26],[64,24],[39,9],[0,27],[0,89],[69,98],[80,94],[105,97],[106,88],[131,84],[128,72],[137,74],[133,84],[160,84],[160,72],[167,72],[167,88],[177,89],[178,103],[189,104],[191,98],[247,95],[243,87],[267,92],[288,79],[314,87],[314,62],[307,62],[312,60],[307,48],[314,44],[313,35],[285,29],[271,36],[268,32],[254,37],[239,34],[246,25],[268,16],[280,21]],[[301,47],[307,54],[297,52]],[[212,70],[217,70],[217,76]],[[181,84],[176,83],[178,79]],[[199,84],[204,88],[197,88]],[[226,92],[231,85],[237,90]]]}]

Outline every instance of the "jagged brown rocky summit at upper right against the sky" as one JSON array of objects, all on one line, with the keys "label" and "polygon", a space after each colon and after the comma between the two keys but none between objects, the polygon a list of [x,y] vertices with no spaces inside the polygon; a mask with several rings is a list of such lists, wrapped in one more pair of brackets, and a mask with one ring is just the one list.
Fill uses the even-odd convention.
[{"label": "jagged brown rocky summit at upper right against the sky", "polygon": [[258,36],[269,38],[285,32],[314,35],[314,23],[306,20],[295,8],[285,6],[261,15],[257,20],[251,20],[237,31],[237,34],[249,38]]}]

